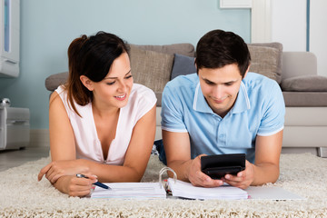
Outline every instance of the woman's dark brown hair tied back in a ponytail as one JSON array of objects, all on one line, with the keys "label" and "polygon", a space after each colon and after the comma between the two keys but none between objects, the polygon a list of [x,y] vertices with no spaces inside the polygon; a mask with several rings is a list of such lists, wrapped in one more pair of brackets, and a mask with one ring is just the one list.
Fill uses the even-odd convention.
[{"label": "woman's dark brown hair tied back in a ponytail", "polygon": [[102,31],[89,37],[82,35],[69,45],[69,76],[65,88],[68,101],[77,114],[74,102],[85,105],[93,101],[93,93],[82,84],[80,76],[85,75],[94,82],[102,81],[114,60],[128,50],[121,38]]}]

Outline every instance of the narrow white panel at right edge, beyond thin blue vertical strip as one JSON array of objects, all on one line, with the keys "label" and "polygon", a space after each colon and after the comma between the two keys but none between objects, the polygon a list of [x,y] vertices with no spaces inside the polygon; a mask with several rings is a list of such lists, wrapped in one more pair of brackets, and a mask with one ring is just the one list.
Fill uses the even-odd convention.
[{"label": "narrow white panel at right edge, beyond thin blue vertical strip", "polygon": [[327,76],[327,1],[310,3],[310,51],[317,56],[318,74]]}]

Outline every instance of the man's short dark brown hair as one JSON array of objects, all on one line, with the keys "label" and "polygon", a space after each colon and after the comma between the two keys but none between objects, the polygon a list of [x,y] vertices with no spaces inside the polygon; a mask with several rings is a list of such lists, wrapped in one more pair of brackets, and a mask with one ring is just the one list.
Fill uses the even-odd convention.
[{"label": "man's short dark brown hair", "polygon": [[203,35],[196,45],[195,64],[201,68],[221,68],[227,64],[237,64],[244,77],[251,56],[247,45],[239,35],[223,30],[213,30]]}]

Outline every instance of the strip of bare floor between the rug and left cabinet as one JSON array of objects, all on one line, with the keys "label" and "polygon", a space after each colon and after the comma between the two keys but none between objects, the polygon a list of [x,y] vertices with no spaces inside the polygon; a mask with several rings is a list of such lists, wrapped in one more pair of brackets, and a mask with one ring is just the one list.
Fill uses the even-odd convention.
[{"label": "strip of bare floor between the rug and left cabinet", "polygon": [[50,147],[25,147],[25,149],[0,151],[0,172],[26,162],[49,156]]}]

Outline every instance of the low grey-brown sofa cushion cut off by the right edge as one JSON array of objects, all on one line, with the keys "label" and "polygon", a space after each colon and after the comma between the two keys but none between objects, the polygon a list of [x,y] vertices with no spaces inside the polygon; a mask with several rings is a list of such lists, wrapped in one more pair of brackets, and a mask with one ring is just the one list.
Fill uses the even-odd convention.
[{"label": "low grey-brown sofa cushion cut off by the right edge", "polygon": [[282,91],[327,92],[327,77],[322,75],[300,75],[282,81]]}]

